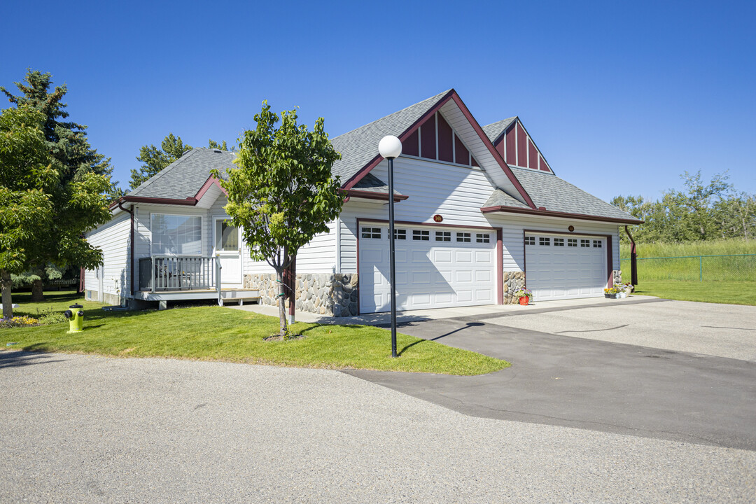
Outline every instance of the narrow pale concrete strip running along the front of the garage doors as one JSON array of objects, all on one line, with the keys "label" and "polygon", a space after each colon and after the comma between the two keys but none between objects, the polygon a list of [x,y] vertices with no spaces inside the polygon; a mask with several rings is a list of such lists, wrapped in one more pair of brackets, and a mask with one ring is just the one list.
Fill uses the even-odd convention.
[{"label": "narrow pale concrete strip running along the front of the garage doors", "polygon": [[[632,295],[624,299],[609,298],[581,298],[581,299],[560,299],[559,301],[541,301],[531,302],[528,306],[521,305],[482,305],[482,306],[463,306],[458,308],[435,308],[432,310],[410,310],[396,312],[397,323],[421,322],[423,320],[441,320],[452,318],[474,317],[478,319],[490,319],[502,317],[510,314],[538,314],[544,311],[556,311],[565,309],[593,308],[606,305],[620,304],[637,304],[660,301],[650,295]],[[243,311],[252,311],[254,313],[278,317],[278,308],[268,305],[243,305],[231,306]],[[323,323],[339,325],[362,325],[362,326],[386,326],[391,323],[390,313],[364,314],[356,317],[327,317],[326,315],[311,314],[306,311],[297,311],[295,314],[297,322],[305,323]]]}]

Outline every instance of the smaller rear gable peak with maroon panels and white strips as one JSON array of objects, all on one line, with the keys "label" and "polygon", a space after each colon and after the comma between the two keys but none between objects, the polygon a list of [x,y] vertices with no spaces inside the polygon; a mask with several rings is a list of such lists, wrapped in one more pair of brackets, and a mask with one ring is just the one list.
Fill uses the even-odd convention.
[{"label": "smaller rear gable peak with maroon panels and white strips", "polygon": [[553,173],[519,117],[510,117],[483,128],[507,165]]}]

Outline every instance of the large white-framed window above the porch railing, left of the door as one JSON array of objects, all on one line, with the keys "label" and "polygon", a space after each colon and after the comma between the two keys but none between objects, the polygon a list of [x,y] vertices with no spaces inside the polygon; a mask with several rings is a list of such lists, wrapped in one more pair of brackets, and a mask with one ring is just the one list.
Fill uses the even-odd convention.
[{"label": "large white-framed window above the porch railing, left of the door", "polygon": [[152,214],[152,253],[202,255],[202,218]]}]

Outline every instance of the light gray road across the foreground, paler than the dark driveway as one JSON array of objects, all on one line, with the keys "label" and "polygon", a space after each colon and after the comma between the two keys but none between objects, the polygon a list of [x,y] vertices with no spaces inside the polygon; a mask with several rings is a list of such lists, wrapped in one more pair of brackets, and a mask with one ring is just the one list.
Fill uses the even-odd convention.
[{"label": "light gray road across the foreground, paler than the dark driveway", "polygon": [[756,452],[322,369],[0,352],[0,502],[754,502]]}]

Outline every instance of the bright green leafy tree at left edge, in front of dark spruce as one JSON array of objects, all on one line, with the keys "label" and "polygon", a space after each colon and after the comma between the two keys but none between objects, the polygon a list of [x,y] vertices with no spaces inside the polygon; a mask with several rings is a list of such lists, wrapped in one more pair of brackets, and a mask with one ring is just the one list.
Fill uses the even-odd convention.
[{"label": "bright green leafy tree at left edge, in front of dark spruce", "polygon": [[11,274],[51,263],[95,267],[102,252],[84,233],[110,220],[107,175],[73,177],[48,149],[45,114],[20,106],[0,114],[0,279],[3,317],[12,317]]}]

